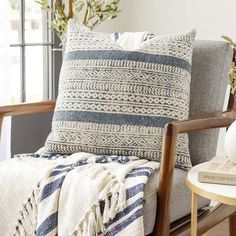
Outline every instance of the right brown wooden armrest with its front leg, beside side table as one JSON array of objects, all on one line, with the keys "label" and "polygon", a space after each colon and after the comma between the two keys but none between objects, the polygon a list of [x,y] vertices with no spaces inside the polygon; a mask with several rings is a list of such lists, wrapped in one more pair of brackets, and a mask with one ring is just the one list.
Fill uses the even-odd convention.
[{"label": "right brown wooden armrest with its front leg, beside side table", "polygon": [[[162,159],[160,167],[158,191],[156,235],[169,235],[170,200],[175,166],[177,135],[205,129],[228,127],[236,119],[236,111],[198,116],[183,121],[176,121],[165,126]],[[165,219],[163,221],[163,219]],[[164,224],[163,224],[164,222]]]}]

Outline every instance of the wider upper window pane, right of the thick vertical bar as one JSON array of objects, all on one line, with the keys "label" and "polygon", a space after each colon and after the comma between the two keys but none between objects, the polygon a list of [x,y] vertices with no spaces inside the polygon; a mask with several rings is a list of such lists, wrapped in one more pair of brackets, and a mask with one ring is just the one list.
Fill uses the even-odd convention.
[{"label": "wider upper window pane, right of the thick vertical bar", "polygon": [[43,42],[43,20],[41,6],[35,0],[25,0],[25,41]]}]

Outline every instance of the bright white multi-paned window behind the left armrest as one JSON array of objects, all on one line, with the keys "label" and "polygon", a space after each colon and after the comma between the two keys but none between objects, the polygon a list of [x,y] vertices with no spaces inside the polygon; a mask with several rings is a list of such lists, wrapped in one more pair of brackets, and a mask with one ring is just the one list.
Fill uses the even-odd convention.
[{"label": "bright white multi-paned window behind the left armrest", "polygon": [[34,0],[9,0],[10,102],[52,97],[52,35],[48,15]]}]

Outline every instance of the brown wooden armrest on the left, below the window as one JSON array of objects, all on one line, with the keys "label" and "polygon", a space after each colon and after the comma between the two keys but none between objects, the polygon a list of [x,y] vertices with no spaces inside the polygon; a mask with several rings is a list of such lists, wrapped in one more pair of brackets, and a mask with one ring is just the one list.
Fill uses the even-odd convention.
[{"label": "brown wooden armrest on the left, below the window", "polygon": [[55,100],[48,100],[35,103],[22,103],[17,105],[9,105],[0,107],[0,137],[2,122],[4,116],[26,115],[38,112],[53,111],[55,107]]}]

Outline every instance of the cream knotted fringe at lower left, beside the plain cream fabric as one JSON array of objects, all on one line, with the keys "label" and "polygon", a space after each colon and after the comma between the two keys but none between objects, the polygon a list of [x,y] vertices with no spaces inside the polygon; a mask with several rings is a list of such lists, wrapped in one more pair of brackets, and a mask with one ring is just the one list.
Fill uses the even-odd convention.
[{"label": "cream knotted fringe at lower left, beside the plain cream fabric", "polygon": [[35,235],[35,229],[37,226],[37,202],[40,192],[39,184],[34,188],[27,201],[23,203],[22,210],[20,211],[20,217],[13,230],[13,236],[29,236]]}]

